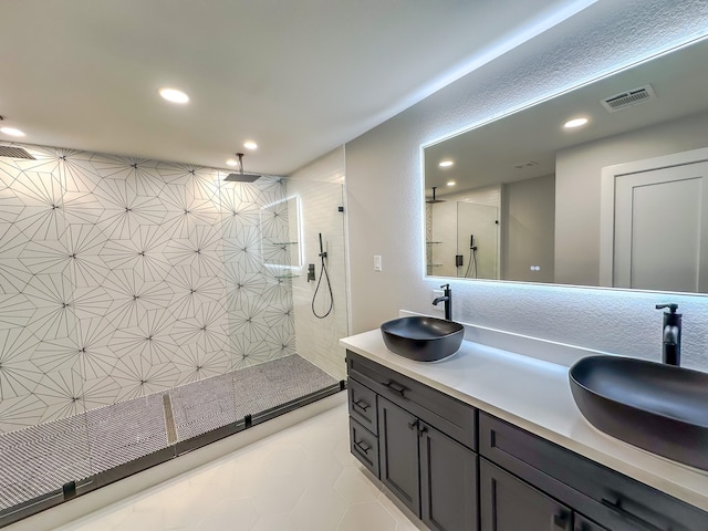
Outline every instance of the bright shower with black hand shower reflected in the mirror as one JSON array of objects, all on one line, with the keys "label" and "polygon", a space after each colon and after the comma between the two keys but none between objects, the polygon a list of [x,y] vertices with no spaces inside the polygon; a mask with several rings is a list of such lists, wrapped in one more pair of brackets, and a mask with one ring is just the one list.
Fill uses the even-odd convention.
[{"label": "bright shower with black hand shower reflected in the mirror", "polygon": [[499,279],[499,209],[458,201],[457,277]]}]

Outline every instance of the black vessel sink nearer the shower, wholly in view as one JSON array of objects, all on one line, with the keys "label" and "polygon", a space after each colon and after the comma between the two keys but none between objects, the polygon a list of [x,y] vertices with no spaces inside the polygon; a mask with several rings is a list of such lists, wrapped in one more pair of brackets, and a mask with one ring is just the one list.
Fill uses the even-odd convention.
[{"label": "black vessel sink nearer the shower, wholly in view", "polygon": [[415,315],[381,325],[386,347],[416,362],[436,362],[455,354],[462,344],[465,326],[442,319]]}]

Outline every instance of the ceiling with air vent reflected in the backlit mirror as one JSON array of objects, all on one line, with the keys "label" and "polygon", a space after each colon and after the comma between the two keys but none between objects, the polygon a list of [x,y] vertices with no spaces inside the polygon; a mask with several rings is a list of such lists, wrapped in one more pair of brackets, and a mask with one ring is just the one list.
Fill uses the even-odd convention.
[{"label": "ceiling with air vent reflected in the backlit mirror", "polygon": [[[708,111],[708,40],[662,55],[633,69],[534,105],[522,112],[460,134],[425,149],[425,187],[436,197],[551,175],[560,149],[606,138]],[[656,100],[608,113],[601,105],[616,94],[650,84]],[[568,119],[590,123],[564,129]],[[444,159],[455,166],[440,168]],[[538,166],[514,168],[535,162]],[[455,180],[455,187],[447,187]]]}]

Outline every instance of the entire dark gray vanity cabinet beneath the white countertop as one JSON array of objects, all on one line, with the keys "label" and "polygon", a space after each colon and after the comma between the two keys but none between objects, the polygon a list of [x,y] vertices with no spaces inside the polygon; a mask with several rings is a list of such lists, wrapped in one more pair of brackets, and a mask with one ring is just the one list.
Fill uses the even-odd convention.
[{"label": "entire dark gray vanity cabinet beneath the white countertop", "polygon": [[708,531],[708,513],[347,352],[352,452],[430,529]]}]

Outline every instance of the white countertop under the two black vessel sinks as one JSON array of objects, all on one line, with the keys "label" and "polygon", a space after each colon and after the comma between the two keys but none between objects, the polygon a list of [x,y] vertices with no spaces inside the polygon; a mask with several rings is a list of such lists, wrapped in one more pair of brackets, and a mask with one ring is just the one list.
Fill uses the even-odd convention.
[{"label": "white countertop under the two black vessel sinks", "polygon": [[597,430],[577,409],[571,395],[568,367],[563,365],[469,341],[462,342],[457,354],[440,362],[414,362],[389,352],[379,330],[345,337],[340,344],[708,511],[708,472],[650,454]]}]

